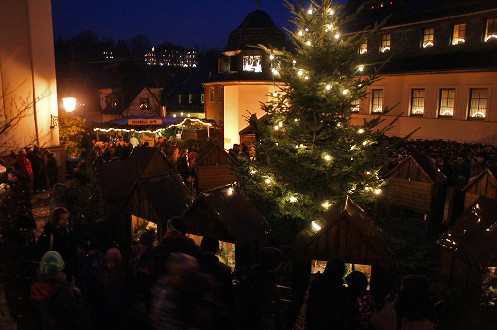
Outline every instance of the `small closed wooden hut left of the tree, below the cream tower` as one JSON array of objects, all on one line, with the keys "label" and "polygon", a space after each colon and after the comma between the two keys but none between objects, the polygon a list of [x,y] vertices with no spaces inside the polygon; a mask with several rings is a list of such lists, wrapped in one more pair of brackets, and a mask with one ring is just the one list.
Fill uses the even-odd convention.
[{"label": "small closed wooden hut left of the tree, below the cream tower", "polygon": [[195,158],[194,186],[197,195],[203,191],[236,181],[235,170],[228,165],[238,166],[238,160],[217,143],[205,146]]}]

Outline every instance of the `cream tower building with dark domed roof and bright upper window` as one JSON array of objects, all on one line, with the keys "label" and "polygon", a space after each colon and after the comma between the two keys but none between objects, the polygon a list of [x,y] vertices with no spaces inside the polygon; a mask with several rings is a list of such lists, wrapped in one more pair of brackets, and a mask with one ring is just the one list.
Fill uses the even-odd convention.
[{"label": "cream tower building with dark domed roof and bright upper window", "polygon": [[224,126],[225,148],[240,143],[239,132],[247,126],[244,116],[262,116],[259,102],[269,101],[278,84],[268,61],[274,54],[257,48],[259,44],[282,50],[287,40],[271,17],[257,8],[230,33],[218,74],[204,83],[205,116]]}]

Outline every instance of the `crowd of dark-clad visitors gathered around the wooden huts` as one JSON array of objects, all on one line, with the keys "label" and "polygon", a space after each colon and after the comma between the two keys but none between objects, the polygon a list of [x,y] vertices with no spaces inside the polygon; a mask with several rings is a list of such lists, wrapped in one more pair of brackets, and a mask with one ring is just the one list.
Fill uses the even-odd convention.
[{"label": "crowd of dark-clad visitors gathered around the wooden huts", "polygon": [[[93,158],[87,159],[94,165],[125,160],[136,142],[127,137],[94,142]],[[156,146],[161,144],[160,138]],[[246,146],[235,145],[229,152],[238,159],[243,158],[240,154],[249,157]],[[198,154],[194,144],[184,155],[189,171]],[[434,161],[451,184],[464,187],[489,168],[487,158],[479,153],[473,165],[462,155],[454,158],[454,164]],[[275,276],[283,254],[276,248],[262,248],[259,264],[237,269],[235,275],[216,256],[219,240],[206,236],[197,246],[188,238],[188,223],[181,217],[164,223],[163,237],[145,230],[133,246],[131,242],[127,247],[97,245],[91,239],[78,242],[72,222],[82,197],[75,182],[87,182],[86,164],[78,162],[72,174],[58,183],[54,154],[40,152],[37,146],[0,161],[0,192],[8,190],[8,200],[3,200],[7,207],[2,208],[2,220],[8,219],[8,228],[2,223],[0,255],[2,265],[7,265],[2,267],[2,279],[15,274],[4,281],[7,296],[24,295],[26,301],[20,304],[32,313],[38,329],[127,329],[126,313],[137,301],[157,330],[289,329],[292,313],[286,313],[284,320]],[[30,192],[47,185],[52,187],[50,216],[35,237]],[[352,271],[344,278],[344,271],[342,261],[331,260],[309,284],[292,322],[294,330],[434,329],[428,321],[426,278],[407,276],[399,295],[379,305],[367,290],[365,274]]]}]

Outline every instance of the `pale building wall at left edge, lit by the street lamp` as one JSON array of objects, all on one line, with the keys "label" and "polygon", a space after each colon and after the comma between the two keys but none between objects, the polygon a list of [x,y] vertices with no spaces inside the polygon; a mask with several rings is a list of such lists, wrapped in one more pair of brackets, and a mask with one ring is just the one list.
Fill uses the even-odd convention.
[{"label": "pale building wall at left edge, lit by the street lamp", "polygon": [[0,154],[59,144],[56,86],[50,0],[0,1]]}]

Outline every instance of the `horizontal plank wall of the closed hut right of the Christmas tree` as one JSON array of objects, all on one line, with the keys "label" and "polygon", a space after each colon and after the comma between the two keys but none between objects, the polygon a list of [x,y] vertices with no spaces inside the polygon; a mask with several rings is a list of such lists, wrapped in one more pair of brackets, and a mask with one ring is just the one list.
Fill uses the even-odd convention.
[{"label": "horizontal plank wall of the closed hut right of the Christmas tree", "polygon": [[392,178],[388,181],[387,202],[422,213],[431,209],[431,183]]}]

